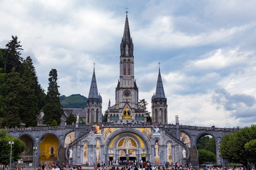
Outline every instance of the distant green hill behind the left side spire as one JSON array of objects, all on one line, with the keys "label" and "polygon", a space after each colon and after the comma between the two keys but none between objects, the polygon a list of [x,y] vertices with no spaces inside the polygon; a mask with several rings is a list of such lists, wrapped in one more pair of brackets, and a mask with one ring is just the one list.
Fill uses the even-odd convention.
[{"label": "distant green hill behind the left side spire", "polygon": [[77,108],[84,109],[86,106],[87,98],[80,94],[72,94],[66,97],[65,95],[60,96],[60,103],[64,108]]}]

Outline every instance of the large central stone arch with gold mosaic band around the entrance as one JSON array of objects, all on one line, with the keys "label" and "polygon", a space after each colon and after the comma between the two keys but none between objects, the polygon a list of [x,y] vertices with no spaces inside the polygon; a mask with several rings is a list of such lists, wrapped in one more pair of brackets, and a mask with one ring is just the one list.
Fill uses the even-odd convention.
[{"label": "large central stone arch with gold mosaic band around the entrance", "polygon": [[[152,155],[150,154],[151,153],[150,139],[148,139],[143,133],[141,133],[137,129],[122,128],[112,132],[111,135],[104,142],[103,152],[106,154],[104,155],[103,160],[105,160],[105,162],[108,162],[108,159],[109,159],[108,157],[109,149],[113,149],[114,151],[114,156],[113,156],[114,160],[118,159],[118,156],[120,158],[119,152],[124,148],[122,148],[121,146],[118,147],[118,145],[120,145],[120,141],[124,140],[124,137],[131,137],[134,140],[134,142],[136,141],[136,148],[129,149],[129,150],[133,150],[132,152],[135,151],[134,156],[136,154],[136,159],[138,160],[141,159],[141,156],[142,156],[141,150],[144,149],[146,152],[146,160],[151,160]],[[128,155],[126,154],[126,156],[129,156],[129,154]]]}]

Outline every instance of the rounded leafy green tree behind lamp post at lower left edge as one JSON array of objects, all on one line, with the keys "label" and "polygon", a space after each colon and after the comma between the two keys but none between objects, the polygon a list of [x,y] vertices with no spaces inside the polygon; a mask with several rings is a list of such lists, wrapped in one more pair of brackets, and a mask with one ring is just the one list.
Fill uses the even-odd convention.
[{"label": "rounded leafy green tree behind lamp post at lower left edge", "polygon": [[8,165],[10,163],[11,145],[9,141],[14,141],[12,145],[12,160],[15,162],[20,159],[20,154],[25,150],[25,143],[11,135],[8,135],[6,129],[0,129],[0,164]]}]

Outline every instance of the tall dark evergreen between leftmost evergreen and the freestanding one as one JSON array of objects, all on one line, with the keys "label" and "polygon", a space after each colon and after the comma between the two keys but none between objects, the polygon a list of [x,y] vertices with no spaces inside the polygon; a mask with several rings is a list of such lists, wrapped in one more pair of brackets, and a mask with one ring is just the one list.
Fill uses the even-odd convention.
[{"label": "tall dark evergreen between leftmost evergreen and the freestanding one", "polygon": [[32,63],[32,59],[27,57],[24,60],[24,73],[22,74],[23,89],[22,89],[22,101],[20,105],[20,119],[28,126],[37,125],[38,99],[35,95],[35,87],[37,84],[37,77],[35,75],[35,68]]}]

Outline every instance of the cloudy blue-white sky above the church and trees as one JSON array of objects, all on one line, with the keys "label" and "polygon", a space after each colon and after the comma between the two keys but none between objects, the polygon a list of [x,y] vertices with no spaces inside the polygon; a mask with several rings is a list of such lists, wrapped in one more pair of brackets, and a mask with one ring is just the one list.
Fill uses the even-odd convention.
[{"label": "cloudy blue-white sky above the church and trees", "polygon": [[40,84],[58,70],[61,95],[88,96],[95,62],[102,110],[114,105],[125,9],[139,98],[156,90],[160,62],[168,122],[234,127],[256,123],[256,1],[0,0],[0,47],[11,35]]}]

